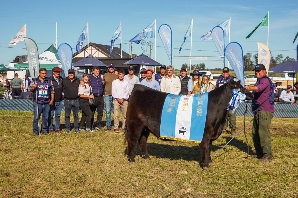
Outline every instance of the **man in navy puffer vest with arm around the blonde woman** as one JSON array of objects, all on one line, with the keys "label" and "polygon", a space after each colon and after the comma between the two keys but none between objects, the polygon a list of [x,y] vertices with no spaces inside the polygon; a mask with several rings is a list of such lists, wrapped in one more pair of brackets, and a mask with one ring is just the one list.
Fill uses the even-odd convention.
[{"label": "man in navy puffer vest with arm around the blonde woman", "polygon": [[[103,130],[102,119],[103,119],[103,80],[100,75],[100,69],[98,66],[93,67],[93,74],[89,75],[90,77],[90,86],[92,87],[92,93],[94,94],[95,104],[97,107],[97,120],[94,122],[94,115],[92,116],[91,123],[93,123],[93,128],[96,130]],[[81,85],[85,86],[84,81],[81,81]],[[83,114],[81,121],[85,123],[86,116]]]}]

